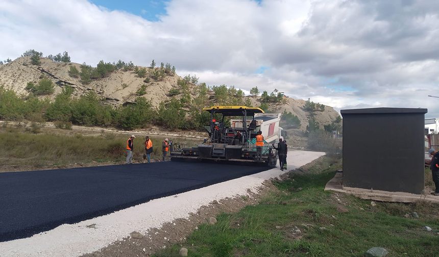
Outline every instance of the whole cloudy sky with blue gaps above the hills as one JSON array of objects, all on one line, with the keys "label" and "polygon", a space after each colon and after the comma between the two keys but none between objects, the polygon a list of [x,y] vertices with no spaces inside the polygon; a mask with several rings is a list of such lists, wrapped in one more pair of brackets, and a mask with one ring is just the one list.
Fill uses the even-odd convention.
[{"label": "whole cloudy sky with blue gaps above the hills", "polygon": [[257,86],[336,110],[428,108],[439,117],[437,0],[0,0],[0,60],[175,65],[200,82]]}]

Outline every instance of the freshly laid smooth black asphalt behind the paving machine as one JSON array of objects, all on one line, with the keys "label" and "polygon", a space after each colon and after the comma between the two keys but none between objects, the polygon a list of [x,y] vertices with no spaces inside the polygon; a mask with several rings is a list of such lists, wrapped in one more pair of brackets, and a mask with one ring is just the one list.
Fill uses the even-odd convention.
[{"label": "freshly laid smooth black asphalt behind the paving machine", "polygon": [[159,162],[0,173],[0,242],[267,169]]}]

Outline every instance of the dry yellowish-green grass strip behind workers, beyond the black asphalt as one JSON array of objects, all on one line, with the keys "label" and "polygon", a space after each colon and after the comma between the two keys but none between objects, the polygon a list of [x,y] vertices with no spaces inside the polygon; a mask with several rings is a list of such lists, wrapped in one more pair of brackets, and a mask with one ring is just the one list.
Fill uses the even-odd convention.
[{"label": "dry yellowish-green grass strip behind workers, beyond the black asphalt", "polygon": [[[146,134],[145,134],[146,136]],[[81,165],[93,166],[96,163],[122,164],[125,163],[126,144],[129,135],[114,133],[99,133],[84,135],[81,132],[72,132],[43,127],[38,123],[30,126],[19,124],[0,126],[0,169],[2,171],[22,167],[35,168],[62,168]],[[150,135],[153,141],[152,160],[162,158],[161,142],[164,136]],[[178,144],[192,146],[199,140],[173,139]],[[134,140],[134,162],[143,162],[144,136],[136,136]]]}]

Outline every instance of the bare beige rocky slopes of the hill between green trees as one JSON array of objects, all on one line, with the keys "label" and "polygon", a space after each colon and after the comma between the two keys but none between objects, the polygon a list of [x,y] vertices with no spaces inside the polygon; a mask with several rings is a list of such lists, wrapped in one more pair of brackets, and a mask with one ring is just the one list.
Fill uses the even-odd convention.
[{"label": "bare beige rocky slopes of the hill between green trees", "polygon": [[[0,65],[0,86],[12,89],[16,93],[26,96],[30,94],[28,89],[26,89],[29,82],[38,83],[42,78],[47,78],[55,84],[55,90],[49,95],[40,95],[38,96],[39,98],[48,97],[54,99],[55,96],[62,91],[62,88],[68,85],[74,88],[73,97],[78,97],[92,91],[101,96],[106,104],[114,107],[133,103],[139,95],[150,100],[153,108],[158,108],[160,102],[169,99],[170,95],[173,95],[177,99],[183,96],[181,83],[179,84],[179,80],[183,79],[173,72],[165,74],[162,76],[162,79],[155,80],[154,73],[160,69],[157,67],[137,67],[136,69],[145,70],[145,74],[142,78],[134,71],[135,69],[133,67],[131,67],[130,70],[119,68],[108,72],[103,78],[91,80],[89,83],[83,83],[80,76],[76,76],[75,78],[69,74],[69,70],[72,66],[76,67],[78,71],[81,71],[81,64],[78,63],[54,62],[48,58],[41,58],[39,65],[33,65],[31,57],[20,57],[10,63]],[[198,85],[190,82],[184,85],[187,92],[184,97],[194,99],[198,96],[200,92]],[[140,94],[138,92],[139,89],[143,91]],[[217,92],[215,90],[207,89],[205,100],[201,102],[201,105],[199,102],[197,108],[203,105],[224,104],[228,99],[233,98],[231,94],[235,94],[237,91],[231,92],[232,93],[228,92],[229,95],[224,95],[223,93],[223,96],[220,97],[216,95]],[[194,106],[190,99],[189,101],[187,99],[185,100],[186,104],[182,106],[184,109],[188,110],[189,107]],[[240,99],[240,104],[246,102],[248,105],[251,103],[252,106],[256,107],[262,104],[262,98],[260,96],[245,96]],[[227,104],[232,103],[227,102]],[[233,104],[237,103],[234,102]],[[300,120],[300,125],[294,128],[284,124],[287,132],[291,135],[289,140],[293,145],[306,145],[305,131],[310,117],[314,117],[315,121],[323,129],[324,125],[330,124],[339,116],[338,113],[329,106],[322,108],[324,110],[319,109],[312,113],[305,111],[305,104],[305,100],[293,99],[287,96],[284,96],[283,99],[277,103],[268,104],[267,109],[269,109],[270,112],[291,112],[292,115],[297,116]]]}]

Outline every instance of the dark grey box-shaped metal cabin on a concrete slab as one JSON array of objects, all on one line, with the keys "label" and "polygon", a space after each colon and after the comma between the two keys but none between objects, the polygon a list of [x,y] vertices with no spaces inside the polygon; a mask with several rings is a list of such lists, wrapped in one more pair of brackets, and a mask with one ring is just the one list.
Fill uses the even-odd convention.
[{"label": "dark grey box-shaped metal cabin on a concrete slab", "polygon": [[421,193],[426,112],[404,108],[342,110],[343,186]]}]

